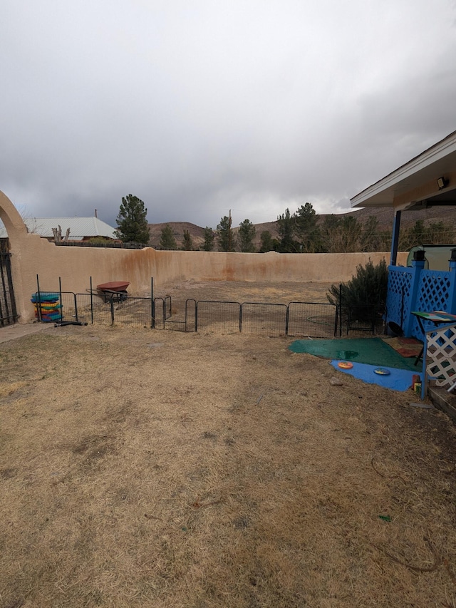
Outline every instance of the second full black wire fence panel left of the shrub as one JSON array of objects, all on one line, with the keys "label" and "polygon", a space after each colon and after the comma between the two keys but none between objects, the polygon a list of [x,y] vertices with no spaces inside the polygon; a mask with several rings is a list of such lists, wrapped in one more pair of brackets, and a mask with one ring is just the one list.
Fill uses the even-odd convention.
[{"label": "second full black wire fence panel left of the shrub", "polygon": [[286,304],[244,302],[241,305],[241,331],[245,334],[285,336],[288,319]]}]

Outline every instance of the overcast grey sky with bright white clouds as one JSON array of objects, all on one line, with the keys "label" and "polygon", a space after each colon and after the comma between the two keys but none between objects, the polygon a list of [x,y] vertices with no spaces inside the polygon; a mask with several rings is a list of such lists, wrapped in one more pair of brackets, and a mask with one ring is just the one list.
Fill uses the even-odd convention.
[{"label": "overcast grey sky with bright white clouds", "polygon": [[0,83],[28,217],[338,213],[456,130],[456,0],[2,0]]}]

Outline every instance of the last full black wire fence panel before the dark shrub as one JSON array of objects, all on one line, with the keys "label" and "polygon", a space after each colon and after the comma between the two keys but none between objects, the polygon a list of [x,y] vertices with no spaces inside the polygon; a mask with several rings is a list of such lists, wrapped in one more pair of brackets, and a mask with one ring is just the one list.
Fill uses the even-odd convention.
[{"label": "last full black wire fence panel before the dark shrub", "polygon": [[288,335],[329,338],[336,335],[338,309],[334,304],[290,302]]}]

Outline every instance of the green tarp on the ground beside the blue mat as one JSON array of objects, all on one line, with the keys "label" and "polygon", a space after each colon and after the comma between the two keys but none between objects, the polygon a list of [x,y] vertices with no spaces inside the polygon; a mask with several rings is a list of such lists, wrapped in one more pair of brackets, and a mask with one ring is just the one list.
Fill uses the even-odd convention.
[{"label": "green tarp on the ground beside the blue mat", "polygon": [[415,358],[403,357],[381,338],[350,338],[334,340],[295,340],[289,349],[294,353],[309,353],[324,359],[357,361],[368,365],[410,369],[420,373],[421,362],[415,366]]}]

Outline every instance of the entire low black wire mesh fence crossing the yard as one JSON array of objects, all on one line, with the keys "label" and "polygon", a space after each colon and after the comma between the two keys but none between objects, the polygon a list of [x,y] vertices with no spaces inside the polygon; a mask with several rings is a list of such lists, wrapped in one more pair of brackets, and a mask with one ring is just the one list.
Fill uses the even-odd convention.
[{"label": "entire low black wire mesh fence crossing the yard", "polygon": [[[45,290],[38,288],[36,294],[43,293]],[[152,294],[152,282],[151,297],[132,297],[125,291],[110,293],[107,297],[93,289],[85,294],[75,294],[63,292],[59,287],[53,292],[58,296],[58,302],[54,304],[59,311],[58,319],[49,317],[48,322],[328,338],[345,331],[347,334],[348,331],[374,333],[380,318],[378,311],[371,312],[365,304],[362,309],[352,307],[353,310],[347,311],[346,306],[329,302],[274,304],[187,299],[184,306],[179,299],[175,305],[170,295],[153,298]]]}]

